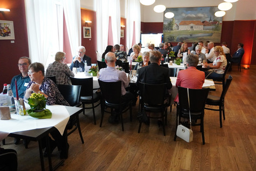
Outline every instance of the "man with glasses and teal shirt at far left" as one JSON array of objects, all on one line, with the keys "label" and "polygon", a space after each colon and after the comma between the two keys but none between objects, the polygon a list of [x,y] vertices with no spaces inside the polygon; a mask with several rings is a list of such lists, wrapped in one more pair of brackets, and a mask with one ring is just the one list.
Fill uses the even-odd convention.
[{"label": "man with glasses and teal shirt at far left", "polygon": [[25,56],[19,58],[18,68],[20,71],[19,75],[16,75],[11,80],[11,90],[13,92],[13,96],[16,97],[16,88],[15,88],[15,80],[17,80],[17,87],[19,97],[24,97],[24,91],[26,91],[27,84],[30,82],[30,77],[27,74],[29,72],[29,65],[31,64],[31,60]]}]

